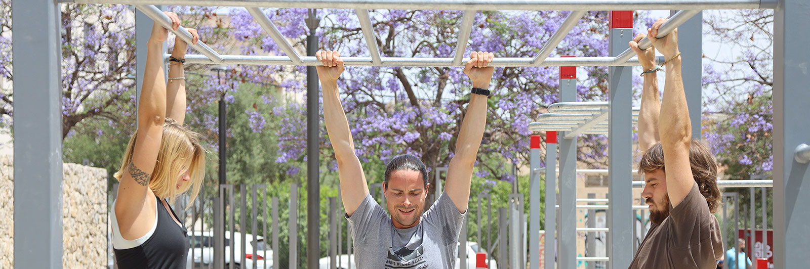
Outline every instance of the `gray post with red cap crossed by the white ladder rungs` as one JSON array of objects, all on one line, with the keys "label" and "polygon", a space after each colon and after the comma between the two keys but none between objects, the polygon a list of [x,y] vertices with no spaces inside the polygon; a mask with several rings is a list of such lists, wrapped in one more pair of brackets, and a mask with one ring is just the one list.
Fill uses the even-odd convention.
[{"label": "gray post with red cap crossed by the white ladder rungs", "polygon": [[[577,100],[577,68],[560,67],[560,100]],[[628,108],[629,109],[629,108]],[[629,118],[629,116],[628,116]],[[559,268],[577,267],[577,138],[560,138]],[[628,187],[629,189],[629,187]]]}]

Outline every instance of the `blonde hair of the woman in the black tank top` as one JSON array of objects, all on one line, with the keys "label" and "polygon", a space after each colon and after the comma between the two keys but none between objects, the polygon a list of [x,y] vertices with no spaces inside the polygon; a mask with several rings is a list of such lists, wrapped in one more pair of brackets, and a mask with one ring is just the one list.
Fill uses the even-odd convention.
[{"label": "blonde hair of the woman in the black tank top", "polygon": [[[118,181],[121,181],[121,177],[126,173],[126,169],[132,161],[137,136],[137,131],[132,134],[121,161],[121,168],[113,174]],[[161,199],[168,198],[169,203],[174,203],[177,196],[191,190],[190,202],[185,208],[191,207],[203,185],[205,153],[198,133],[167,117],[163,124],[163,136],[160,139],[160,150],[155,169],[149,178],[149,189]],[[177,178],[186,171],[189,173],[189,183],[183,184],[180,190],[177,190]]]}]

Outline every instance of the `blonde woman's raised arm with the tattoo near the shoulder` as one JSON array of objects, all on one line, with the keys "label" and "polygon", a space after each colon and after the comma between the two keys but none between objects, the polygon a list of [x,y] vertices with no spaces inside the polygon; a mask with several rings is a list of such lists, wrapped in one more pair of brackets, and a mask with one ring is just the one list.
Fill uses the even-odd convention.
[{"label": "blonde woman's raised arm with the tattoo near the shoulder", "polygon": [[[173,27],[180,26],[180,19],[172,12],[166,12],[172,18]],[[144,205],[149,202],[149,180],[155,169],[160,139],[163,135],[163,124],[166,115],[166,83],[163,69],[163,42],[168,31],[155,23],[151,37],[147,42],[147,63],[143,73],[143,87],[138,103],[138,130],[134,143],[132,160],[121,177],[118,186],[116,217],[124,237],[132,234],[143,235],[151,228],[142,220]],[[154,199],[151,199],[154,201]],[[154,215],[149,217],[154,219]],[[140,224],[140,225],[135,225]],[[143,230],[147,228],[147,230]]]}]

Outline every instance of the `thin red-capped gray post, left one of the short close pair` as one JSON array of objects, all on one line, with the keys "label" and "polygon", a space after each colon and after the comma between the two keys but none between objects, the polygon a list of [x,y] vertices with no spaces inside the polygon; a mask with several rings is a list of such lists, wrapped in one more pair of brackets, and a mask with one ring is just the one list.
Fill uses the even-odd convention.
[{"label": "thin red-capped gray post, left one of the short close pair", "polygon": [[[540,136],[529,138],[529,269],[540,267]],[[480,221],[479,221],[480,223]]]}]

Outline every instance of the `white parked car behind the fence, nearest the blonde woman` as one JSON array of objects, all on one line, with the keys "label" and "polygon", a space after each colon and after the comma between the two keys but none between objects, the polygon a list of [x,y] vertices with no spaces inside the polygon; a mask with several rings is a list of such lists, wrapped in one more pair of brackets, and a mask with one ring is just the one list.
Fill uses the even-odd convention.
[{"label": "white parked car behind the fence, nearest the blonde woman", "polygon": [[[207,267],[209,264],[214,263],[214,237],[213,233],[207,231],[194,231],[194,245],[189,249],[188,260],[185,267],[188,269]],[[273,250],[265,244],[264,237],[255,237],[252,234],[245,233],[245,254],[241,253],[242,250],[242,235],[241,233],[234,233],[236,237],[233,241],[235,255],[233,268],[250,269],[254,267],[253,253],[256,250],[256,268],[271,268],[273,266]],[[194,253],[194,257],[192,257]],[[245,257],[245,264],[241,264],[241,258]],[[192,260],[192,258],[194,258]],[[225,232],[225,268],[230,268],[228,264],[231,263],[231,233]]]}]

